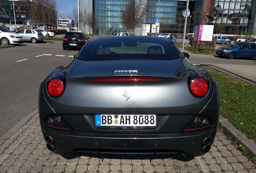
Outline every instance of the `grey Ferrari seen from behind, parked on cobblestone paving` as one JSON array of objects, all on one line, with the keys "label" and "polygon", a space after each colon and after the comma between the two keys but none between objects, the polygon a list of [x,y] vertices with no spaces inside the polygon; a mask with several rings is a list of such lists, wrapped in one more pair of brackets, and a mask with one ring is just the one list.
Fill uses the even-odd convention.
[{"label": "grey Ferrari seen from behind, parked on cobblestone paving", "polygon": [[110,154],[211,149],[218,84],[166,38],[93,39],[41,83],[39,118],[47,149]]}]

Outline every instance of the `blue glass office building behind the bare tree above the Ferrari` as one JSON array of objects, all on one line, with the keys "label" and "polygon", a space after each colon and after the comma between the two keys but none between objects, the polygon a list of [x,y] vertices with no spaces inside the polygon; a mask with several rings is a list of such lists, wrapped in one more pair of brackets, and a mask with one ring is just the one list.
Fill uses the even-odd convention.
[{"label": "blue glass office building behind the bare tree above the Ferrari", "polygon": [[[157,15],[160,18],[160,24],[164,24],[161,32],[183,32],[184,17],[182,11],[186,8],[186,0],[142,0],[143,6],[150,5],[147,11],[145,24],[155,24]],[[193,9],[194,0],[190,0],[190,9]],[[127,32],[128,30],[122,24],[121,10],[125,8],[125,0],[79,0],[78,6],[81,12],[94,16],[94,28],[89,24],[84,25],[80,22],[82,30],[87,30],[95,34],[111,34],[111,31]],[[159,6],[159,14],[158,14]],[[177,24],[178,23],[178,24]],[[161,29],[161,26],[160,26]],[[134,28],[136,34],[142,34],[142,24]]]}]

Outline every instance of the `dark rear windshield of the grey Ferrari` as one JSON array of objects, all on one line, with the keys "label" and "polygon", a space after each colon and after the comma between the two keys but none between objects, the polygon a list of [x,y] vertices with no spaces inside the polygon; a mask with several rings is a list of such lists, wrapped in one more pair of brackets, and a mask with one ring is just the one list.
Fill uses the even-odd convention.
[{"label": "dark rear windshield of the grey Ferrari", "polygon": [[[169,39],[99,39],[91,40],[79,52],[78,58],[85,60],[113,58],[164,58],[184,57],[180,49]],[[152,37],[151,37],[152,38]]]}]

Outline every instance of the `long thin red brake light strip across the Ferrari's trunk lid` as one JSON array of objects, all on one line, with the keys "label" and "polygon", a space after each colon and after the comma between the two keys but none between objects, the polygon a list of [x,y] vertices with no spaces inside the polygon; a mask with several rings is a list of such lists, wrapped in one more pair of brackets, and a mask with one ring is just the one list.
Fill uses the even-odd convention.
[{"label": "long thin red brake light strip across the Ferrari's trunk lid", "polygon": [[155,81],[161,78],[92,78],[91,81]]}]

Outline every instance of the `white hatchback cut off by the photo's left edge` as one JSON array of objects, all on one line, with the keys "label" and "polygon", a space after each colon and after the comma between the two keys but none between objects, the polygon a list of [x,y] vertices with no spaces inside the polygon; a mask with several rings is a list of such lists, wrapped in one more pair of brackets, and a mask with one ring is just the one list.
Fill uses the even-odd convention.
[{"label": "white hatchback cut off by the photo's left edge", "polygon": [[11,32],[10,30],[0,26],[0,44],[21,44],[23,43],[23,37],[19,34]]}]

